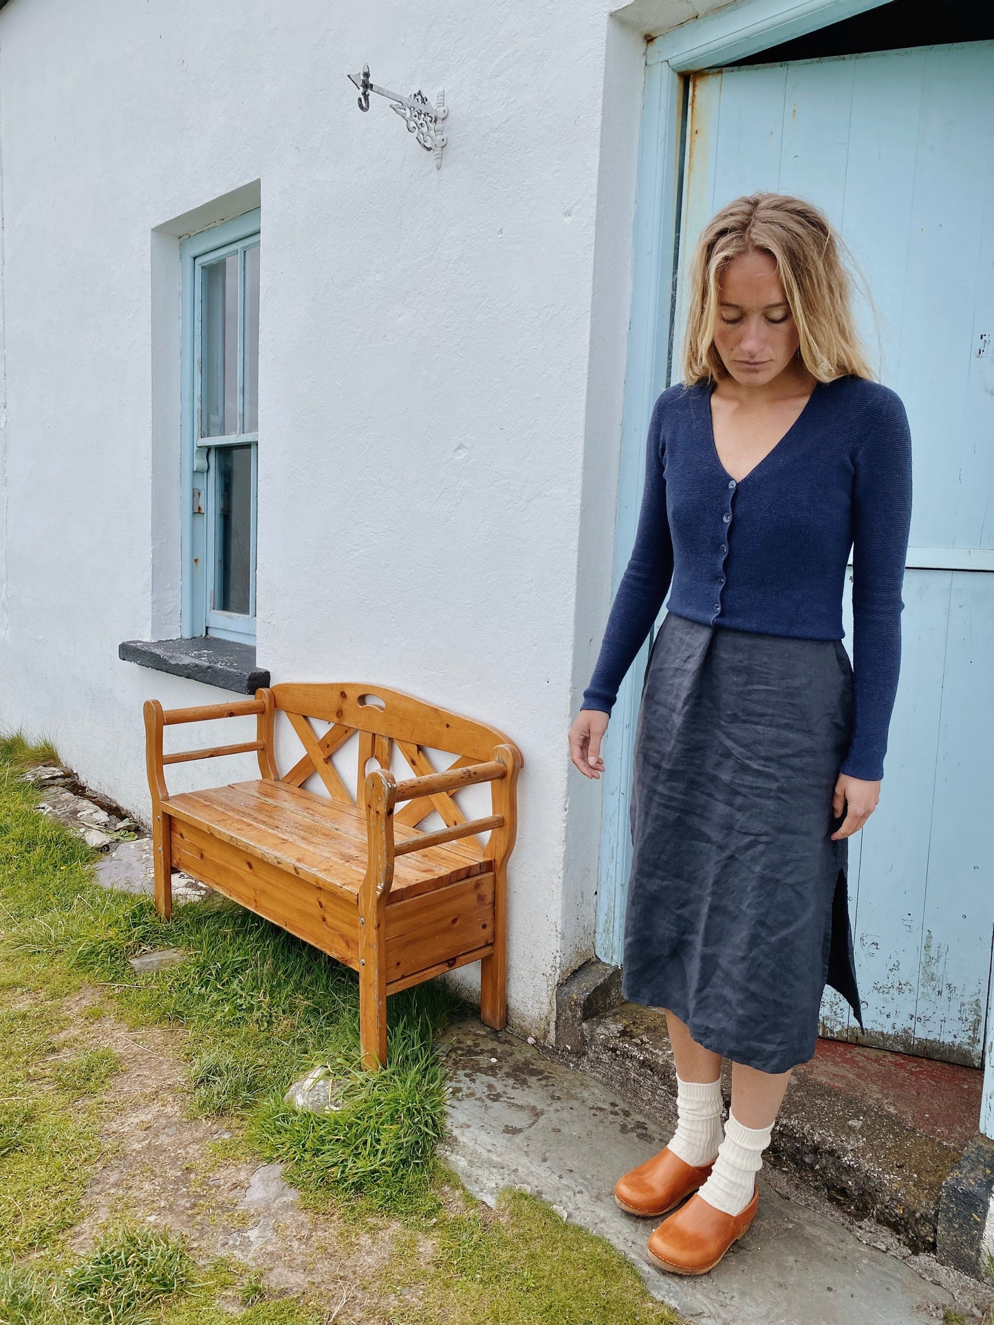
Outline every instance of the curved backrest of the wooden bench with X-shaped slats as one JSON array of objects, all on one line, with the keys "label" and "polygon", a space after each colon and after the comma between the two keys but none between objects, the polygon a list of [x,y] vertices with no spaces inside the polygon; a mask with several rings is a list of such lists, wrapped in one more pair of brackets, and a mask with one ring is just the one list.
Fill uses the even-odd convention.
[{"label": "curved backrest of the wooden bench with X-shaped slats", "polygon": [[[366,772],[372,766],[370,761],[382,768],[390,768],[394,747],[419,776],[445,771],[433,766],[427,753],[429,749],[455,755],[455,762],[448,767],[461,768],[486,762],[497,745],[513,747],[513,742],[497,727],[384,686],[350,681],[285,684],[274,685],[269,693],[273,696],[276,713],[286,716],[304,746],[301,759],[282,776],[276,770],[276,763],[270,762],[270,776],[301,787],[317,774],[331,799],[347,804],[363,806]],[[318,735],[311,719],[330,725]],[[331,757],[357,731],[359,757],[353,794]],[[269,747],[272,750],[272,742]],[[411,800],[398,810],[395,818],[399,823],[416,825],[433,810],[449,827],[467,822],[455,795],[447,792]]]}]

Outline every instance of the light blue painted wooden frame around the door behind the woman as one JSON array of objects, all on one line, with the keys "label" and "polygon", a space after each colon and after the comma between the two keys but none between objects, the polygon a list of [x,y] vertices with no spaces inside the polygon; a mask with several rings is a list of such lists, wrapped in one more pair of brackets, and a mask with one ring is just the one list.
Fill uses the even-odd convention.
[{"label": "light blue painted wooden frame around the door behind the woman", "polygon": [[[612,599],[628,564],[644,481],[644,448],[652,407],[668,384],[673,360],[675,284],[683,205],[688,118],[684,76],[767,50],[840,23],[888,0],[740,0],[649,41],[639,129],[632,244],[632,305],[624,382]],[[630,780],[641,676],[641,645],[622,682],[604,746],[595,950],[619,966],[618,904],[631,867]],[[983,1098],[979,1130],[994,1137],[994,978],[987,987]]]}]

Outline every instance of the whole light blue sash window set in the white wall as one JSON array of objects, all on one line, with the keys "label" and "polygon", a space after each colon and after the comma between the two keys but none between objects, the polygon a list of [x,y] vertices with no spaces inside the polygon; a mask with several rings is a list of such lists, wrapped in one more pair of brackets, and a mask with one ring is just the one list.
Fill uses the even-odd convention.
[{"label": "whole light blue sash window set in the white wall", "polygon": [[256,637],[260,213],[192,235],[183,265],[183,635]]}]

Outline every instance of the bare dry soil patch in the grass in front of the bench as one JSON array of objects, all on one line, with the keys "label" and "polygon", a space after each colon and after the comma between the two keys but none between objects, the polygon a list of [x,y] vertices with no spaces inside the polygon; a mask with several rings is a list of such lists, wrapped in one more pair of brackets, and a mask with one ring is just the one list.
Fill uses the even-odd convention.
[{"label": "bare dry soil patch in the grass in front of the bench", "polygon": [[371,1281],[394,1253],[392,1222],[359,1231],[334,1211],[307,1208],[280,1165],[227,1158],[241,1145],[241,1124],[190,1116],[183,1031],[135,1031],[102,1007],[95,988],[65,999],[62,1011],[61,1048],[106,1048],[122,1064],[103,1096],[105,1155],[68,1239],[73,1252],[91,1251],[107,1224],[127,1218],[183,1234],[201,1264],[241,1263],[270,1293],[304,1296],[338,1321],[388,1309]]}]

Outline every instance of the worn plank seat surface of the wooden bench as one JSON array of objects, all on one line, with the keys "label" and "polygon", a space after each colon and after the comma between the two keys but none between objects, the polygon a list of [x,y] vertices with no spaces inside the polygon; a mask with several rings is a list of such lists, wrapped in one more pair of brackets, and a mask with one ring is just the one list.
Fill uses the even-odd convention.
[{"label": "worn plank seat surface of the wooden bench", "polygon": [[[261,794],[260,794],[261,791]],[[272,782],[233,783],[170,796],[163,810],[322,888],[358,893],[366,872],[363,811]],[[403,837],[416,837],[404,829]],[[390,902],[476,876],[489,863],[449,845],[396,860]]]}]

